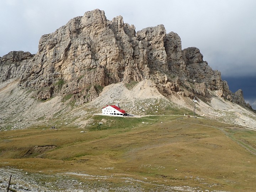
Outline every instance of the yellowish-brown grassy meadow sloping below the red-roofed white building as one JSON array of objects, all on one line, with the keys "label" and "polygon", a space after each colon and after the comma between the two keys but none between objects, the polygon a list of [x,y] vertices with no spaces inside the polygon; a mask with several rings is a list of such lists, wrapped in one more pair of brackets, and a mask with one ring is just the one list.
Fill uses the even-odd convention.
[{"label": "yellowish-brown grassy meadow sloping below the red-roofed white building", "polygon": [[94,124],[86,129],[34,126],[0,132],[0,168],[70,175],[108,189],[256,188],[254,130],[186,116],[91,118]]}]

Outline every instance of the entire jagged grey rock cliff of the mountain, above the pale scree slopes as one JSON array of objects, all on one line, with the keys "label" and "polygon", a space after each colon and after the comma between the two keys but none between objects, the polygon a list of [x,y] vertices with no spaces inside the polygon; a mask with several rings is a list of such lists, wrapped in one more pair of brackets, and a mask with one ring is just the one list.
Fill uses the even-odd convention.
[{"label": "entire jagged grey rock cliff of the mountain, above the pale scree slopes", "polygon": [[215,91],[245,104],[242,92],[229,91],[198,48],[181,49],[177,33],[166,34],[164,25],[136,33],[122,16],[109,21],[98,9],[43,35],[34,56],[10,52],[0,58],[0,82],[12,78],[19,78],[22,88],[35,90],[37,98],[73,94],[77,105],[96,98],[103,86],[144,78],[169,94],[196,94],[210,101],[209,91]]}]

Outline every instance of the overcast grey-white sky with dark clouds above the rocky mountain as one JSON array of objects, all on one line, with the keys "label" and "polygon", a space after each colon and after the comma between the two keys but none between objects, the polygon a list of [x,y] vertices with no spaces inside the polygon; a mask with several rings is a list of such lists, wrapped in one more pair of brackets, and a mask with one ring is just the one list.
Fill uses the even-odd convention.
[{"label": "overcast grey-white sky with dark clouds above the rocky mountain", "polygon": [[[166,33],[178,33],[182,49],[199,48],[224,79],[256,80],[256,0],[1,0],[0,57],[12,50],[36,53],[43,34],[94,9],[108,20],[123,16],[136,31],[163,24]],[[254,92],[244,94],[256,108],[252,86]]]}]

